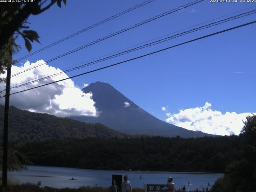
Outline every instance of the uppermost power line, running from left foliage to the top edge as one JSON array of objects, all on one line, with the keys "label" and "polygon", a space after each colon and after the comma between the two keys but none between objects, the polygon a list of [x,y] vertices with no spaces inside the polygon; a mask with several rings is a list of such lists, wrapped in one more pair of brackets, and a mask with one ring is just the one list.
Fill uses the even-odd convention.
[{"label": "uppermost power line, running from left foliage to the top edge", "polygon": [[143,2],[143,3],[141,3],[141,4],[138,4],[138,5],[134,6],[134,7],[131,7],[131,8],[129,8],[129,9],[123,11],[123,12],[120,12],[120,13],[118,13],[118,14],[116,14],[116,15],[114,15],[114,16],[111,16],[111,17],[109,17],[109,18],[107,18],[107,19],[104,19],[104,20],[102,20],[102,21],[100,21],[100,22],[98,22],[98,23],[96,23],[96,24],[93,24],[93,25],[91,25],[91,26],[89,26],[89,27],[86,27],[86,28],[84,28],[84,29],[82,29],[82,30],[80,30],[80,31],[78,31],[78,32],[75,32],[75,33],[73,33],[73,34],[71,34],[71,35],[69,35],[69,36],[67,36],[67,37],[65,37],[65,38],[62,38],[62,39],[60,39],[60,40],[58,40],[58,41],[56,41],[56,42],[54,42],[54,43],[52,43],[52,44],[50,44],[50,45],[48,45],[48,46],[45,46],[45,47],[43,47],[43,48],[41,48],[41,49],[39,49],[39,50],[36,50],[35,52],[32,52],[32,53],[30,53],[30,54],[28,54],[28,55],[26,55],[26,56],[24,56],[24,57],[18,59],[17,61],[20,61],[20,60],[22,60],[22,59],[28,58],[28,57],[30,57],[30,56],[32,56],[32,55],[34,55],[34,54],[37,54],[37,53],[39,53],[39,52],[41,52],[41,51],[43,51],[43,50],[48,49],[48,48],[50,48],[50,47],[52,47],[52,46],[54,46],[54,45],[56,45],[56,44],[59,44],[60,42],[63,42],[63,41],[65,41],[65,40],[68,40],[68,39],[70,39],[70,38],[72,38],[72,37],[74,37],[74,36],[76,36],[76,35],[78,35],[78,34],[80,34],[80,33],[82,33],[82,32],[85,32],[85,31],[87,31],[87,30],[90,30],[90,29],[92,29],[92,28],[94,28],[94,27],[96,27],[96,26],[99,26],[99,25],[101,25],[101,24],[103,24],[103,23],[106,23],[106,22],[108,22],[108,21],[110,21],[110,20],[112,20],[112,19],[114,19],[114,18],[117,18],[117,17],[119,17],[119,16],[122,16],[122,15],[128,13],[128,12],[131,12],[132,10],[135,10],[135,9],[137,9],[137,8],[140,8],[140,7],[142,7],[142,6],[146,5],[146,4],[149,4],[149,3],[153,2],[153,1],[155,1],[155,0],[147,0],[147,1]]}]

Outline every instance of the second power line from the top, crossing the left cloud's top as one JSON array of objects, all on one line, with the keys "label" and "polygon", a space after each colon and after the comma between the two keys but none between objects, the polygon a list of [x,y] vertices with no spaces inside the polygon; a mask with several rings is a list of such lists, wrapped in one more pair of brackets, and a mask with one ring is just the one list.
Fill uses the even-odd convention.
[{"label": "second power line from the top, crossing the left cloud's top", "polygon": [[150,18],[150,19],[148,19],[148,20],[144,20],[144,21],[142,21],[142,22],[140,22],[140,23],[138,23],[138,24],[135,24],[135,25],[130,26],[130,27],[128,27],[128,28],[122,29],[122,30],[120,30],[120,31],[118,31],[118,32],[115,32],[115,33],[113,33],[113,34],[110,34],[110,35],[108,35],[108,36],[105,36],[105,37],[103,37],[103,38],[100,38],[100,39],[98,39],[98,40],[96,40],[96,41],[90,42],[89,44],[83,45],[83,46],[78,47],[78,48],[76,48],[76,49],[74,49],[74,50],[71,50],[71,51],[66,52],[66,53],[64,53],[64,54],[61,54],[61,55],[59,55],[59,56],[56,56],[56,57],[54,57],[54,58],[52,58],[52,59],[50,59],[50,60],[44,62],[43,64],[34,66],[34,67],[32,67],[32,68],[28,68],[28,69],[26,69],[26,70],[23,70],[23,71],[21,71],[21,72],[18,72],[18,73],[16,73],[16,74],[13,74],[11,77],[17,76],[18,74],[21,74],[21,73],[26,72],[26,71],[28,71],[28,70],[31,70],[31,69],[34,69],[34,68],[36,68],[36,67],[42,66],[42,65],[44,65],[44,64],[46,64],[46,63],[49,63],[49,62],[51,62],[51,61],[53,61],[53,60],[56,60],[56,59],[58,59],[58,58],[61,58],[61,57],[63,57],[63,56],[66,56],[66,55],[68,55],[68,54],[74,53],[74,52],[79,51],[79,50],[81,50],[81,49],[84,49],[84,48],[86,48],[86,47],[88,47],[88,46],[91,46],[91,45],[93,45],[93,44],[96,44],[96,43],[98,43],[98,42],[101,42],[101,41],[103,41],[103,40],[105,40],[105,39],[108,39],[108,38],[110,38],[110,37],[116,36],[116,35],[118,35],[118,34],[120,34],[120,33],[126,32],[126,31],[128,31],[128,30],[131,30],[131,29],[133,29],[133,28],[136,28],[136,27],[138,27],[138,26],[141,26],[141,25],[143,25],[143,24],[146,24],[146,23],[148,23],[148,22],[151,22],[151,21],[153,21],[153,20],[156,20],[156,19],[158,19],[158,18],[161,18],[161,17],[166,16],[166,15],[168,15],[168,14],[171,14],[171,13],[173,13],[173,12],[176,12],[176,11],[178,11],[178,10],[182,10],[182,9],[184,9],[184,8],[186,8],[186,7],[192,6],[192,5],[197,4],[197,3],[199,3],[199,2],[202,2],[202,1],[204,1],[204,0],[196,0],[196,1],[193,1],[193,2],[190,2],[190,3],[186,4],[186,5],[184,5],[184,6],[180,6],[180,7],[178,7],[178,8],[172,9],[172,10],[170,10],[170,11],[168,11],[168,12],[164,12],[163,14],[154,16],[154,17],[152,17],[152,18]]}]

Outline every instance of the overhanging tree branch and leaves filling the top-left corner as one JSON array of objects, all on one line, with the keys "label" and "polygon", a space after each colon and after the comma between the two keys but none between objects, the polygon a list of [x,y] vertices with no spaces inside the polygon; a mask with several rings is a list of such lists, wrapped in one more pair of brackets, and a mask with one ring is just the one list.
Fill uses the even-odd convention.
[{"label": "overhanging tree branch and leaves filling the top-left corner", "polygon": [[[39,36],[34,30],[27,30],[30,24],[27,22],[28,17],[32,15],[38,15],[48,10],[52,5],[57,2],[57,5],[61,7],[62,0],[51,0],[47,5],[44,5],[47,1],[36,0],[34,2],[12,2],[1,3],[0,6],[0,74],[4,74],[7,67],[14,65],[16,61],[12,61],[12,55],[18,52],[20,46],[15,43],[18,35],[24,38],[25,46],[30,52],[32,45],[30,42],[34,40],[38,43]],[[66,0],[63,0],[66,5]],[[24,30],[26,29],[26,30]],[[0,83],[4,79],[0,78]],[[1,92],[0,92],[1,95]]]}]

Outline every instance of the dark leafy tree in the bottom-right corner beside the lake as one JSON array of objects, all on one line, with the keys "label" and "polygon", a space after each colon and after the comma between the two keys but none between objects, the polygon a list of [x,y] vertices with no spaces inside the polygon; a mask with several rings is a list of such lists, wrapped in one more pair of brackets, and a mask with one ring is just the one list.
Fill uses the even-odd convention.
[{"label": "dark leafy tree in the bottom-right corner beside the lake", "polygon": [[237,150],[238,158],[228,164],[224,178],[214,184],[212,192],[255,191],[256,115],[246,117],[240,138],[241,147]]}]

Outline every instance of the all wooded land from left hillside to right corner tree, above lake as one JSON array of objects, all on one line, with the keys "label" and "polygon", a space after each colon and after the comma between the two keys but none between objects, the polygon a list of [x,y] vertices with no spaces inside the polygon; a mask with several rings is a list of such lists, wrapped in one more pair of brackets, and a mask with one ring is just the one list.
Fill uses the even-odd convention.
[{"label": "all wooded land from left hillside to right corner tree, above lake", "polygon": [[224,178],[216,181],[212,192],[256,189],[253,114],[246,117],[239,136],[167,138],[131,136],[102,124],[10,107],[9,131],[9,170],[31,163],[105,170],[224,172]]}]

